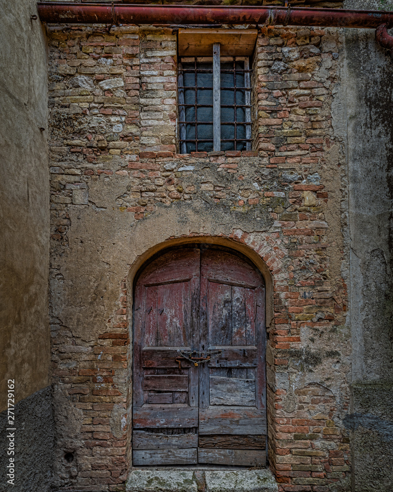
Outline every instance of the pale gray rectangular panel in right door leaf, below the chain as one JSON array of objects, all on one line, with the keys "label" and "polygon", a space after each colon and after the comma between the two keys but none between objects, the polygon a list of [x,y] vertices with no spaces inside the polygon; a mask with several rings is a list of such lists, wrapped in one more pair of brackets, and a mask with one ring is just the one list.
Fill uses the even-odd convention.
[{"label": "pale gray rectangular panel in right door leaf, below the chain", "polygon": [[254,405],[255,380],[235,377],[210,377],[210,404]]}]

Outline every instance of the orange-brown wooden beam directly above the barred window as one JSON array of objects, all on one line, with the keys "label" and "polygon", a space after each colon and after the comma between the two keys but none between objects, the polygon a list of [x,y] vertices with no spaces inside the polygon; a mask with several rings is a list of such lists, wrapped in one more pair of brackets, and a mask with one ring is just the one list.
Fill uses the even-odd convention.
[{"label": "orange-brown wooden beam directly above the barred window", "polygon": [[179,29],[180,56],[212,56],[220,43],[221,56],[251,56],[256,29]]}]

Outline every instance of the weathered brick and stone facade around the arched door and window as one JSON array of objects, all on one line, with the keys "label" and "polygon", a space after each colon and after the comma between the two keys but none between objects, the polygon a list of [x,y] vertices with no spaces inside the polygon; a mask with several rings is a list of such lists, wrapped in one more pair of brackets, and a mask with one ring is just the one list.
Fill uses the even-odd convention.
[{"label": "weathered brick and stone facade around the arched door and window", "polygon": [[[342,425],[350,373],[346,168],[332,109],[341,69],[337,31],[260,31],[253,60],[254,150],[242,153],[176,153],[171,29],[52,27],[50,45],[54,284],[65,280],[77,289],[84,277],[72,271],[68,258],[101,247],[89,240],[94,231],[86,218],[94,215],[107,226],[108,204],[100,204],[97,190],[112,197],[112,211],[130,227],[147,223],[163,206],[196,200],[233,214],[268,216],[261,232],[232,224],[226,235],[256,251],[273,278],[270,465],[282,491],[327,492],[332,483],[334,490],[350,490],[349,438]],[[82,225],[70,218],[78,214]],[[71,228],[78,228],[72,242]],[[124,241],[120,231],[112,243]],[[116,261],[114,248],[108,257]],[[108,273],[97,279],[103,303],[111,282],[117,298],[94,330],[83,313],[96,298],[78,300],[78,307],[61,289],[51,290],[53,382],[80,422],[65,449],[62,410],[55,405],[57,480],[95,491],[122,490],[130,466],[130,286],[125,269],[113,280],[106,264]],[[71,298],[82,296],[71,290]],[[67,303],[66,323],[56,313]],[[75,452],[74,465],[63,459],[66,451]]]}]

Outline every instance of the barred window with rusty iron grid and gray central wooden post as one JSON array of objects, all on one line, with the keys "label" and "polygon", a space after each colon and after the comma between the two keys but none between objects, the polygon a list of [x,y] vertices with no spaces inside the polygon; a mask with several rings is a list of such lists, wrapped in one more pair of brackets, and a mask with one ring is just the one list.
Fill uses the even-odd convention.
[{"label": "barred window with rusty iron grid and gray central wooden post", "polygon": [[[248,57],[183,57],[178,70],[180,152],[251,149]],[[214,68],[214,57],[216,67]],[[216,115],[216,116],[215,116]]]}]

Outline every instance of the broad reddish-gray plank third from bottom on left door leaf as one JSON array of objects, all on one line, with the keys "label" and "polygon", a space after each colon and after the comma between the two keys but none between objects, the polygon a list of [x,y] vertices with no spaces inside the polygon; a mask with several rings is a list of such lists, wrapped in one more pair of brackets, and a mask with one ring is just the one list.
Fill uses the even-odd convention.
[{"label": "broad reddish-gray plank third from bottom on left door leaf", "polygon": [[[133,409],[133,427],[197,427],[198,408],[188,405],[143,405]],[[212,432],[210,432],[212,433]]]}]

